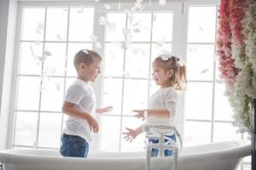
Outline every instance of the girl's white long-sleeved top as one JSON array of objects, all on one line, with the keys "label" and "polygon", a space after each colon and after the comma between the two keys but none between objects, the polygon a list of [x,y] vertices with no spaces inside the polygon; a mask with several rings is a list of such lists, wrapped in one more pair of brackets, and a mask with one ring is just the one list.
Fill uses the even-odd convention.
[{"label": "girl's white long-sleeved top", "polygon": [[177,127],[179,116],[177,116],[178,94],[172,87],[160,88],[151,95],[148,101],[148,109],[167,109],[170,118],[148,116],[146,124],[148,125],[166,125]]}]

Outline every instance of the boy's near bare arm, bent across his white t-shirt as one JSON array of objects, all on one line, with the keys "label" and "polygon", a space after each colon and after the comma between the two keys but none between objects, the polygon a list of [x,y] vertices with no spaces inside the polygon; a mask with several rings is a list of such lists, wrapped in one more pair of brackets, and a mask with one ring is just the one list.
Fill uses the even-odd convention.
[{"label": "boy's near bare arm, bent across his white t-shirt", "polygon": [[76,105],[65,101],[62,105],[62,111],[68,116],[72,116],[78,119],[84,119],[85,121],[87,121],[90,125],[90,130],[94,133],[97,133],[99,131],[99,126],[96,120],[92,116],[90,116],[89,113],[79,110]]}]

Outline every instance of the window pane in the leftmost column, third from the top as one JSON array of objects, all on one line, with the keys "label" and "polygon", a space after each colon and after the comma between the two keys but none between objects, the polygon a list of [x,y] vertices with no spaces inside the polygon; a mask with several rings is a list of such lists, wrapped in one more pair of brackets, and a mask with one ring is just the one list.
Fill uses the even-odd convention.
[{"label": "window pane in the leftmost column, third from the top", "polygon": [[18,110],[38,111],[40,79],[38,77],[19,77]]}]

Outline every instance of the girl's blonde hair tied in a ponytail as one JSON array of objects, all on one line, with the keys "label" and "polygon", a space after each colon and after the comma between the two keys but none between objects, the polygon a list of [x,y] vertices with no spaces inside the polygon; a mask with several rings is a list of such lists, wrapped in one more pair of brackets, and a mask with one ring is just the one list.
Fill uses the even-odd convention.
[{"label": "girl's blonde hair tied in a ponytail", "polygon": [[170,78],[170,86],[182,90],[183,84],[187,83],[186,67],[185,65],[179,65],[180,59],[172,55],[160,54],[153,63],[159,64],[164,70],[173,70],[173,75]]}]

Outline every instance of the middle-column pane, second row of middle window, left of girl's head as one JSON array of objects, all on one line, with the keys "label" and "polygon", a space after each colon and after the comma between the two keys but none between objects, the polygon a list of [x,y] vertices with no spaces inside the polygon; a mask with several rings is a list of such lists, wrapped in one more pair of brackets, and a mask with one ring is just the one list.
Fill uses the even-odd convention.
[{"label": "middle-column pane, second row of middle window, left of girl's head", "polygon": [[125,77],[148,78],[149,44],[133,43],[125,56]]}]

